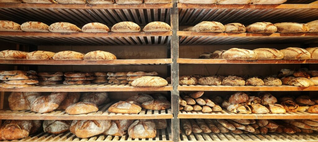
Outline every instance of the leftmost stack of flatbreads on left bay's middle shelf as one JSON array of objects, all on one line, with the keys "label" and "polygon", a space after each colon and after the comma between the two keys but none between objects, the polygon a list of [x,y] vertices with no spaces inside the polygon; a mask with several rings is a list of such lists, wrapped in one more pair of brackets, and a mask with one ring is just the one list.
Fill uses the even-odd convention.
[{"label": "leftmost stack of flatbreads on left bay's middle shelf", "polygon": [[37,72],[22,71],[22,70],[13,70],[13,71],[0,71],[0,80],[3,83],[0,83],[0,87],[3,88],[24,88],[24,87],[33,87],[38,83],[38,77],[36,76]]}]

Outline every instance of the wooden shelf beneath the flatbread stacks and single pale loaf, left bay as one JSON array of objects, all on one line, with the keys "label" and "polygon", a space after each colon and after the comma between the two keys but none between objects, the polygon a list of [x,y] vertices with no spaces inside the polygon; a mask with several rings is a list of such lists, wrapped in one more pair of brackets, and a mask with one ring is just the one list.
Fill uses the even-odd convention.
[{"label": "wooden shelf beneath the flatbread stacks and single pale loaf, left bay", "polygon": [[172,91],[173,87],[169,84],[165,87],[132,87],[130,84],[109,84],[94,83],[87,85],[42,85],[26,88],[2,88],[0,92],[117,92],[117,91]]}]

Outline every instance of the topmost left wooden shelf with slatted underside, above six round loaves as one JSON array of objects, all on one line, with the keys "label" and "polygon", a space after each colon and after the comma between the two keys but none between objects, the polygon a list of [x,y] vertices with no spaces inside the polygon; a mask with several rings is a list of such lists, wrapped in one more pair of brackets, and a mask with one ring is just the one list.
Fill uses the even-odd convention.
[{"label": "topmost left wooden shelf with slatted underside, above six round loaves", "polygon": [[[130,21],[138,25],[170,23],[172,3],[163,4],[43,4],[0,3],[0,17],[22,24],[39,21],[48,25],[69,22],[77,26],[99,22],[107,26]],[[110,28],[109,27],[109,28]]]}]

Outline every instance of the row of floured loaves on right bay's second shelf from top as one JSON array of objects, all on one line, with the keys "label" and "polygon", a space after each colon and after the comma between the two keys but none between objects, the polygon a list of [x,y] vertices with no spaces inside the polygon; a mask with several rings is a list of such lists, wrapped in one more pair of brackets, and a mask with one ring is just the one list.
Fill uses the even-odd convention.
[{"label": "row of floured loaves on right bay's second shelf from top", "polygon": [[241,23],[229,23],[223,25],[219,22],[204,21],[194,27],[188,27],[183,31],[193,32],[226,32],[226,33],[299,33],[318,32],[318,20],[306,24],[285,22],[272,24],[270,22],[257,22],[245,27]]}]

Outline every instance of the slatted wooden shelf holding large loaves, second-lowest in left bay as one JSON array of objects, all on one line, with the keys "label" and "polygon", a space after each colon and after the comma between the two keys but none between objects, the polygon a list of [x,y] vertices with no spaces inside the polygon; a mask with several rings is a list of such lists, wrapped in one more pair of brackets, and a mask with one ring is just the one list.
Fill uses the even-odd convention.
[{"label": "slatted wooden shelf holding large loaves, second-lowest in left bay", "polygon": [[158,111],[142,109],[138,114],[122,114],[108,112],[115,102],[109,102],[99,107],[98,112],[69,115],[64,110],[55,110],[50,113],[35,113],[30,110],[12,111],[10,109],[0,110],[0,119],[24,119],[24,120],[103,120],[103,119],[172,119],[171,108]]}]

